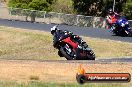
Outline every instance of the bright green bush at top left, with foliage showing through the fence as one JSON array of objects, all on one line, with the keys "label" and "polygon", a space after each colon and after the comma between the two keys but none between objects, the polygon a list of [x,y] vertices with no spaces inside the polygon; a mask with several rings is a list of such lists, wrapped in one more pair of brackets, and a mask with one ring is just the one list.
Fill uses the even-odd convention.
[{"label": "bright green bush at top left, with foliage showing through the fence", "polygon": [[[40,11],[51,11],[51,5],[54,0],[9,0],[8,6],[14,8],[22,8],[22,9],[30,9],[29,12],[21,12],[20,14],[24,14],[26,16],[26,20],[28,16],[31,17],[31,22],[35,22],[36,10]],[[13,12],[13,9],[11,10]]]}]

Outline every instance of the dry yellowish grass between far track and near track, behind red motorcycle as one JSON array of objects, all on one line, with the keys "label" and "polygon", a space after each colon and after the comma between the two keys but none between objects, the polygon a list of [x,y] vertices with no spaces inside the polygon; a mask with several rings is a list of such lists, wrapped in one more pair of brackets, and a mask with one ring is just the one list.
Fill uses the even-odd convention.
[{"label": "dry yellowish grass between far track and near track, behind red motorcycle", "polygon": [[[83,37],[97,58],[132,56],[132,43]],[[49,32],[0,26],[0,58],[65,59],[52,46]]]}]

